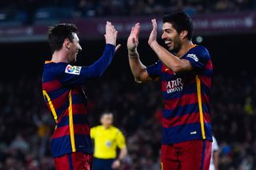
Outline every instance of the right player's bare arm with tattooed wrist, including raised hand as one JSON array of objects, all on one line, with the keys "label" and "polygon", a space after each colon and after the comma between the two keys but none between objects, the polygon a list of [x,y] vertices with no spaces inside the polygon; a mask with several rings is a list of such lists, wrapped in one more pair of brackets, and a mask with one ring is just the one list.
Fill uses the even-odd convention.
[{"label": "right player's bare arm with tattooed wrist, including raised hand", "polygon": [[135,81],[141,83],[144,81],[152,81],[152,79],[146,72],[146,66],[143,65],[139,59],[137,51],[139,28],[139,23],[135,24],[135,26],[132,27],[130,31],[130,36],[127,40],[127,49],[131,72],[134,75]]}]

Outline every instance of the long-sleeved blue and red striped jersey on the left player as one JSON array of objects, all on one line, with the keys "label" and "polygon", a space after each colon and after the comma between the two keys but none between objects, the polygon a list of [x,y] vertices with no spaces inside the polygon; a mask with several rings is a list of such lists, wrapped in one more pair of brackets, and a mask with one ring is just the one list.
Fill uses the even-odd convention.
[{"label": "long-sleeved blue and red striped jersey on the left player", "polygon": [[87,99],[82,85],[91,77],[102,76],[114,57],[114,50],[114,45],[106,45],[102,57],[86,67],[46,61],[42,73],[42,92],[56,121],[51,139],[54,157],[70,152],[93,153]]}]

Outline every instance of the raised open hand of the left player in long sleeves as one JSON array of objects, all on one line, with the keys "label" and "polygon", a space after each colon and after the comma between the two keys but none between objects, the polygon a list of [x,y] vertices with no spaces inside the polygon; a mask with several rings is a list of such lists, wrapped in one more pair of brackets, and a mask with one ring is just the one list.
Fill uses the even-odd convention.
[{"label": "raised open hand of the left player in long sleeves", "polygon": [[116,45],[117,37],[118,37],[118,31],[115,30],[111,22],[106,22],[106,34],[105,34],[106,44]]}]

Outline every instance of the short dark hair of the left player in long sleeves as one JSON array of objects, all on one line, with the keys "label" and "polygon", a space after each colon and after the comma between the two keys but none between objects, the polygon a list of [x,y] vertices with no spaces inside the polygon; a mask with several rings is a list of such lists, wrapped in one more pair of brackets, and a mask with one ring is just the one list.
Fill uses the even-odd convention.
[{"label": "short dark hair of the left player in long sleeves", "polygon": [[50,26],[48,30],[48,42],[51,51],[62,49],[62,44],[66,38],[73,42],[73,33],[78,33],[78,28],[74,24],[63,23],[55,26]]}]

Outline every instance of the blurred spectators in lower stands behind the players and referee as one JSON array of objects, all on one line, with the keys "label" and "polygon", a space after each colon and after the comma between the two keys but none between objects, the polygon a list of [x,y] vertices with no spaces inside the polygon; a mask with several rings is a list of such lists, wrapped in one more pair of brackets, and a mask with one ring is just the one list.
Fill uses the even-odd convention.
[{"label": "blurred spectators in lower stands behind the players and referee", "polygon": [[[256,78],[215,75],[212,123],[220,146],[219,169],[256,168]],[[54,169],[50,136],[54,121],[42,101],[40,77],[17,77],[0,84],[0,169]],[[161,142],[160,84],[136,84],[132,77],[95,80],[85,86],[90,125],[98,125],[104,110],[127,140],[123,170],[159,169]]]}]

